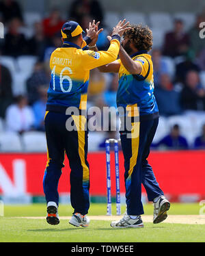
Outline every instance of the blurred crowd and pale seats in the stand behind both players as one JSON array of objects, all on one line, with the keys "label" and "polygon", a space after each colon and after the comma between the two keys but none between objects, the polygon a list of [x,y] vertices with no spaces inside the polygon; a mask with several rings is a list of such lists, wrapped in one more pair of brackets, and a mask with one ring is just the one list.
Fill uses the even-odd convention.
[{"label": "blurred crowd and pale seats in the stand behind both players", "polygon": [[[108,48],[107,36],[120,18],[152,29],[154,94],[161,114],[152,149],[205,149],[205,39],[200,38],[205,5],[200,11],[178,12],[176,6],[172,13],[168,9],[145,13],[139,8],[126,11],[126,6],[121,12],[105,10],[102,1],[96,0],[64,3],[64,14],[55,2],[42,14],[27,10],[22,1],[0,1],[5,29],[0,39],[0,151],[46,151],[50,55],[61,47],[60,29],[65,21],[77,21],[85,30],[93,18],[104,28],[97,42],[99,50]],[[117,74],[92,70],[87,107],[116,107],[117,90]],[[104,150],[105,139],[113,137],[118,138],[118,131],[90,132],[89,150]]]}]

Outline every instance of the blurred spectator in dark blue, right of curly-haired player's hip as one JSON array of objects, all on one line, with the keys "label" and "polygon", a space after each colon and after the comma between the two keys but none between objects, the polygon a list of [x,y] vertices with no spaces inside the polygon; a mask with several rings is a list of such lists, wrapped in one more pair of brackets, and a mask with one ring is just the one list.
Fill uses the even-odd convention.
[{"label": "blurred spectator in dark blue, right of curly-haired player's hip", "polygon": [[170,133],[165,136],[162,140],[160,140],[156,144],[152,144],[153,147],[165,147],[165,149],[188,149],[188,143],[186,138],[180,135],[180,127],[179,125],[174,125],[170,131]]}]

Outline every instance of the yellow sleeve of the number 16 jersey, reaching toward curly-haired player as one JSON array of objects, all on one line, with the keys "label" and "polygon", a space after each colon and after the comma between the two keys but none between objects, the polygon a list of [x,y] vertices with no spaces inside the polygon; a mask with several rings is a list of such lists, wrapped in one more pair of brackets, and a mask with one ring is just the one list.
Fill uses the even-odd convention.
[{"label": "yellow sleeve of the number 16 jersey, reaching toward curly-haired player", "polygon": [[117,39],[111,40],[107,51],[83,51],[81,58],[83,68],[90,70],[113,62],[117,59],[119,51],[120,41]]}]

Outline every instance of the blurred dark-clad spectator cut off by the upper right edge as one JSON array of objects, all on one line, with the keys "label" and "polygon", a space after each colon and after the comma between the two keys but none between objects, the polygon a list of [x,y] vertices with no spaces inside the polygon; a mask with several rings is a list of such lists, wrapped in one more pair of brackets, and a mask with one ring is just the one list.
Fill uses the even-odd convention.
[{"label": "blurred dark-clad spectator cut off by the upper right edge", "polygon": [[202,29],[200,28],[200,23],[203,21],[205,21],[205,17],[202,14],[198,15],[194,27],[189,31],[190,47],[195,57],[200,56],[201,51],[205,49],[204,40],[199,36]]}]

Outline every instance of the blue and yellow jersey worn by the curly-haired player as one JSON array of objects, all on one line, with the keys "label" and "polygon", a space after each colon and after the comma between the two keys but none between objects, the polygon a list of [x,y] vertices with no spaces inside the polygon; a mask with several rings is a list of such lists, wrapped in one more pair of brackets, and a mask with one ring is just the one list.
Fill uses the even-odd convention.
[{"label": "blue and yellow jersey worn by the curly-haired player", "polygon": [[159,116],[159,110],[154,97],[153,64],[147,51],[139,51],[131,55],[132,60],[141,64],[139,75],[132,75],[124,68],[121,60],[119,70],[119,87],[117,105],[126,110],[127,107],[139,107],[141,120]]}]

